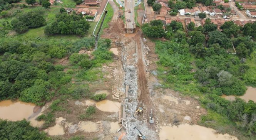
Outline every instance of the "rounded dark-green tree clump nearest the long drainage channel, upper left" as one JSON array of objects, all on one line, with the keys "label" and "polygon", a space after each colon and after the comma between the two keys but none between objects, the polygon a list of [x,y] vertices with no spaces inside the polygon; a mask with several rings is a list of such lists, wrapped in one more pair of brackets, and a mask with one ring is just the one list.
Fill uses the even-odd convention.
[{"label": "rounded dark-green tree clump nearest the long drainage channel, upper left", "polygon": [[56,20],[51,25],[45,27],[44,33],[47,35],[64,34],[83,36],[90,28],[90,24],[85,18],[79,15],[69,15],[60,13],[56,15]]}]

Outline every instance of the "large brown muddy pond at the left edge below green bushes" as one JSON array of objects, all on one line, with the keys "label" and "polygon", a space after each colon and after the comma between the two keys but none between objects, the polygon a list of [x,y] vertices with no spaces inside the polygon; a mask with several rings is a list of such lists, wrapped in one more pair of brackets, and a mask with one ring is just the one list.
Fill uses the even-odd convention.
[{"label": "large brown muddy pond at the left edge below green bushes", "polygon": [[12,121],[26,119],[30,120],[32,126],[40,127],[44,122],[35,119],[45,108],[35,109],[35,113],[33,112],[34,108],[35,104],[32,103],[3,100],[0,102],[0,118]]}]

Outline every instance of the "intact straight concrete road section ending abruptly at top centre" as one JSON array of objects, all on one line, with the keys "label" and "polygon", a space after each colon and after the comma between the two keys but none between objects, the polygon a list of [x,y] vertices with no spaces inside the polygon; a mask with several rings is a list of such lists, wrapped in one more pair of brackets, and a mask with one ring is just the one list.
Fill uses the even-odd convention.
[{"label": "intact straight concrete road section ending abruptly at top centre", "polygon": [[134,33],[136,24],[134,22],[134,0],[125,0],[124,10],[131,12],[124,12],[125,17],[125,31],[126,33]]}]

